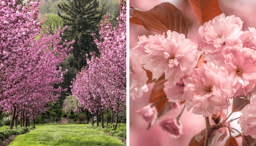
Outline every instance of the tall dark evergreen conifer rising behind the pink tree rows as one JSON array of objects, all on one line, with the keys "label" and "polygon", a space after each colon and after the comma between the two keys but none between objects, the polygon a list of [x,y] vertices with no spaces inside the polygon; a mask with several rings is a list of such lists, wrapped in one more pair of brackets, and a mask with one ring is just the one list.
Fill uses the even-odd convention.
[{"label": "tall dark evergreen conifer rising behind the pink tree rows", "polygon": [[77,63],[76,68],[80,71],[87,64],[86,54],[95,51],[99,55],[92,33],[99,34],[98,24],[103,13],[97,9],[99,7],[98,0],[68,0],[58,6],[65,13],[62,15],[58,12],[63,19],[64,26],[69,26],[62,37],[68,41],[76,40],[71,53]]}]

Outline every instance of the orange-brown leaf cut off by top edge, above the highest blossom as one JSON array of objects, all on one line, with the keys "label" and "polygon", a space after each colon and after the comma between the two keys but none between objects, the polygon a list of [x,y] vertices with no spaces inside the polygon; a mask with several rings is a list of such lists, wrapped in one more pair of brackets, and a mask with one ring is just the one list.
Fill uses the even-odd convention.
[{"label": "orange-brown leaf cut off by top edge, above the highest blossom", "polygon": [[200,25],[221,14],[218,0],[188,0]]}]

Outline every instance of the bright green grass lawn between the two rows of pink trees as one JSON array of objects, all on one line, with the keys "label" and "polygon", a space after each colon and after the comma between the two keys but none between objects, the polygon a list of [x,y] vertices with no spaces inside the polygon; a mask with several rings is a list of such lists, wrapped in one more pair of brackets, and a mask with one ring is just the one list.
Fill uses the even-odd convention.
[{"label": "bright green grass lawn between the two rows of pink trees", "polygon": [[[8,146],[125,146],[121,140],[85,124],[44,124],[27,134],[18,135]],[[53,137],[61,138],[56,142]]]}]

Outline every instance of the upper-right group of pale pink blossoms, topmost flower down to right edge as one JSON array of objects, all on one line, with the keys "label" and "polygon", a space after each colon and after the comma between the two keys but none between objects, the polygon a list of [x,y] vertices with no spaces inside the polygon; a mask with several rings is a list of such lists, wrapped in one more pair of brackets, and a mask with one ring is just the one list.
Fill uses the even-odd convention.
[{"label": "upper-right group of pale pink blossoms, topmost flower down to right edge", "polygon": [[255,28],[241,31],[240,18],[221,14],[199,28],[199,50],[204,60],[224,67],[236,90],[233,97],[250,96],[255,92],[256,52]]}]

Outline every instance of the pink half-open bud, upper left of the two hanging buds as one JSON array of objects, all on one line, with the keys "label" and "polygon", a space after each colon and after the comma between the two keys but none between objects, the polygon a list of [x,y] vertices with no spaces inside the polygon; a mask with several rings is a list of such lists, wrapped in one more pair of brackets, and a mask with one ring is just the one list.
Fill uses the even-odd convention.
[{"label": "pink half-open bud, upper left of the two hanging buds", "polygon": [[157,119],[157,109],[155,106],[152,106],[152,103],[148,103],[148,105],[143,106],[142,108],[138,109],[136,113],[143,117],[145,121],[153,125],[155,120]]}]

